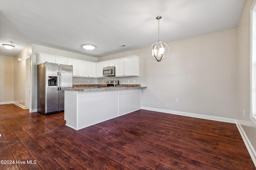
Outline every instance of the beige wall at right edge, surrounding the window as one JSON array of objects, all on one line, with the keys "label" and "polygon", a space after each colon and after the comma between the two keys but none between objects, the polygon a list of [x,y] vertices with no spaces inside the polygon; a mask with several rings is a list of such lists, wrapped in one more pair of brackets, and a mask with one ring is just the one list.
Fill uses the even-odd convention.
[{"label": "beige wall at right edge, surrounding the window", "polygon": [[[237,103],[238,122],[256,150],[256,125],[250,120],[250,8],[253,0],[247,0],[237,34]],[[243,115],[243,109],[245,115]],[[256,155],[255,155],[256,156]]]}]

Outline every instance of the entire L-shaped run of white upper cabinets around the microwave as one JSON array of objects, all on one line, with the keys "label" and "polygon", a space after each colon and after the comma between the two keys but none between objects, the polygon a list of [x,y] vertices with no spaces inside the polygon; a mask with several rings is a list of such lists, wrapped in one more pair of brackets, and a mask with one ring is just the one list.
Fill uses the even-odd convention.
[{"label": "entire L-shaped run of white upper cabinets around the microwave", "polygon": [[139,58],[138,56],[124,57],[102,62],[90,62],[68,57],[55,56],[50,54],[38,53],[37,64],[49,62],[57,64],[66,64],[73,66],[74,77],[103,77],[102,72],[104,67],[115,66],[116,77],[122,76],[139,76]]}]

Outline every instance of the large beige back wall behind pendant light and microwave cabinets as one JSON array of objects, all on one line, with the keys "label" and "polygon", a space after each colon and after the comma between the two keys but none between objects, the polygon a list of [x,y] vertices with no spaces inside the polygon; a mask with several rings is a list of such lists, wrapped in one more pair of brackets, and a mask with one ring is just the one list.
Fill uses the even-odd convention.
[{"label": "large beige back wall behind pendant light and microwave cabinets", "polygon": [[144,107],[236,119],[236,28],[167,44],[169,57],[159,63],[149,57],[149,47],[98,61],[140,56],[140,76],[119,80],[148,87]]}]

